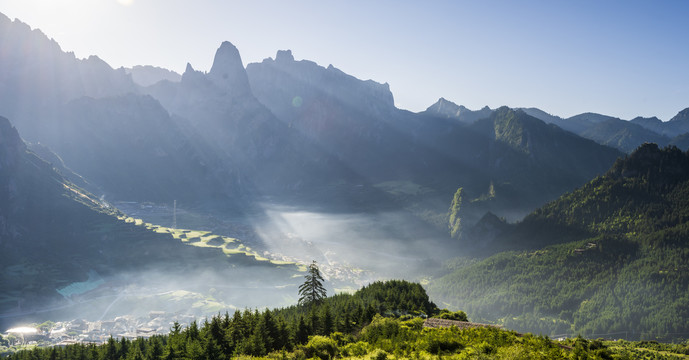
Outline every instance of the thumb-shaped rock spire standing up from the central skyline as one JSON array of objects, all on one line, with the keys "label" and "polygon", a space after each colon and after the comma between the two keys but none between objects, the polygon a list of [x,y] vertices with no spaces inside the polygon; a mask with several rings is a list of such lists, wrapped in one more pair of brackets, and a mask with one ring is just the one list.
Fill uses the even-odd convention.
[{"label": "thumb-shaped rock spire standing up from the central skyline", "polygon": [[208,78],[219,88],[235,95],[250,92],[249,77],[242,65],[239,50],[229,41],[224,41],[215,52]]}]

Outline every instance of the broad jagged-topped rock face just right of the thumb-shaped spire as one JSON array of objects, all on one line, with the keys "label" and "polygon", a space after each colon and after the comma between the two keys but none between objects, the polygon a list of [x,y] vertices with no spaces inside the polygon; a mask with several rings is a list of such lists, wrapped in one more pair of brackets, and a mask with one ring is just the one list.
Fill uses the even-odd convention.
[{"label": "broad jagged-topped rock face just right of the thumb-shaped spire", "polygon": [[394,129],[405,125],[393,123],[400,111],[387,84],[295,61],[289,50],[249,64],[247,73],[256,97],[280,121],[355,173],[376,181],[409,171],[401,164],[409,135]]}]

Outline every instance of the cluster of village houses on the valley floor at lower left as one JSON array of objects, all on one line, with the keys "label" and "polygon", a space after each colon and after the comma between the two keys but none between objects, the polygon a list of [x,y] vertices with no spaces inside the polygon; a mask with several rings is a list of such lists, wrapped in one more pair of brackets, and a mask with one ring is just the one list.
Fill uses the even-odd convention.
[{"label": "cluster of village houses on the valley floor at lower left", "polygon": [[44,346],[65,346],[75,343],[103,344],[110,337],[134,340],[153,335],[164,335],[170,332],[175,322],[186,326],[196,317],[179,315],[164,311],[151,311],[148,317],[135,318],[120,316],[107,321],[86,321],[76,319],[55,323],[50,329],[36,327],[16,327],[7,330],[2,337],[10,345],[40,344]]}]

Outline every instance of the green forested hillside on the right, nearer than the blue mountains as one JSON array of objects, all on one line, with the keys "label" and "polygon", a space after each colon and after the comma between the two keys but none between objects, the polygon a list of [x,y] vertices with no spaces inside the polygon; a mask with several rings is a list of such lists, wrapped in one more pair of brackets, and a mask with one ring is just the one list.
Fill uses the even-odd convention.
[{"label": "green forested hillside on the right, nearer than the blue mountains", "polygon": [[531,250],[461,267],[436,280],[431,296],[551,335],[681,337],[689,331],[688,193],[689,154],[643,145],[493,241]]}]

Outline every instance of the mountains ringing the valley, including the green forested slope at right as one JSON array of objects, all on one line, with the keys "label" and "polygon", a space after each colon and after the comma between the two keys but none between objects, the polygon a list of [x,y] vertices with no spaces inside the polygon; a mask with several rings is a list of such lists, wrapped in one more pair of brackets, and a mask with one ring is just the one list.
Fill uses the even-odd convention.
[{"label": "mountains ringing the valley, including the green forested slope at right", "polygon": [[[124,221],[110,205],[178,200],[242,226],[280,206],[385,219],[376,228],[392,245],[377,233],[356,242],[333,223],[323,227],[333,226],[336,245],[368,243],[381,263],[385,253],[391,264],[405,259],[428,270],[473,256],[451,260],[431,294],[515,328],[686,330],[668,319],[684,311],[689,109],[667,122],[594,113],[563,119],[536,108],[472,111],[441,98],[413,113],[395,107],[388,84],[296,60],[289,50],[244,66],[239,50],[223,42],[208,72],[191,64],[181,75],[113,69],[96,56],[77,59],[2,14],[0,54],[0,289],[9,294],[0,309],[46,306],[55,289],[90,270],[260,273],[271,286],[293,285],[293,264],[228,260],[207,249],[226,244],[186,246],[188,239],[146,219]],[[262,225],[253,231],[265,235]],[[286,229],[299,246],[251,245],[264,255],[308,249],[292,255],[318,254],[364,272]],[[635,273],[642,278],[631,279]],[[654,285],[661,278],[680,290]],[[629,284],[660,294],[659,305]],[[615,306],[627,309],[623,316],[613,315]]]}]

